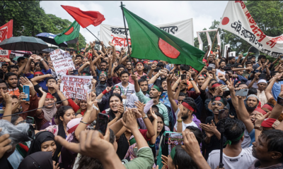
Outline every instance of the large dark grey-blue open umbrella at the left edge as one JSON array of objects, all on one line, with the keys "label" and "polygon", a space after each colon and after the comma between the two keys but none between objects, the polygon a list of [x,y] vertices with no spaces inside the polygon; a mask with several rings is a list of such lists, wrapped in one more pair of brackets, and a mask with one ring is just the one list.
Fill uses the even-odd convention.
[{"label": "large dark grey-blue open umbrella at the left edge", "polygon": [[42,49],[47,49],[48,45],[42,39],[21,36],[4,39],[0,43],[0,47],[12,51],[41,51]]}]

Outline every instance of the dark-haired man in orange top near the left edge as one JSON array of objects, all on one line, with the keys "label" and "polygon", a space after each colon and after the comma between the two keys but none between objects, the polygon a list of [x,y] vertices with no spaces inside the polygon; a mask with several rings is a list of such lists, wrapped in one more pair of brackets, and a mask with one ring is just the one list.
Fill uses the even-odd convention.
[{"label": "dark-haired man in orange top near the left edge", "polygon": [[8,92],[11,95],[20,96],[20,90],[18,89],[18,76],[15,73],[6,73],[5,80],[8,84]]}]

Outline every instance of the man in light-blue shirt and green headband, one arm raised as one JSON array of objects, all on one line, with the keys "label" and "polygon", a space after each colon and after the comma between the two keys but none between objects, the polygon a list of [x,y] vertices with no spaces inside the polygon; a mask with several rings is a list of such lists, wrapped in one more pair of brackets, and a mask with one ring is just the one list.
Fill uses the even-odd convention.
[{"label": "man in light-blue shirt and green headband, one arm raised", "polygon": [[[161,86],[154,85],[153,87],[151,87],[151,90],[149,92],[149,98],[148,98],[148,97],[144,96],[143,92],[141,92],[141,89],[139,87],[139,82],[138,82],[138,79],[137,79],[137,75],[132,75],[132,80],[134,80],[134,89],[135,89],[136,95],[139,98],[139,101],[141,101],[141,103],[146,104],[151,99],[157,99],[159,101],[160,96],[163,93],[163,88]],[[167,110],[166,106],[164,104],[162,104],[160,101],[158,102],[158,104],[156,104],[156,106],[158,106],[158,108],[159,108],[159,113],[161,113],[161,115],[163,115],[165,125],[168,126],[169,125],[169,118],[168,118],[168,110]]]}]

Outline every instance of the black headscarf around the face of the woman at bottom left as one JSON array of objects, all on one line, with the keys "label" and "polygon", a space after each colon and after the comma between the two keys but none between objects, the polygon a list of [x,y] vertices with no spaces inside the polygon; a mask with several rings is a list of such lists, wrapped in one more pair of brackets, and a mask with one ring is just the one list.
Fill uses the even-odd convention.
[{"label": "black headscarf around the face of the woman at bottom left", "polygon": [[[54,140],[54,134],[52,134],[52,132],[47,132],[47,131],[43,131],[43,132],[37,132],[37,134],[35,134],[35,139],[31,142],[30,144],[30,149],[28,149],[28,155],[30,154],[34,154],[38,151],[41,151],[41,144],[44,143],[44,142],[48,142],[48,141],[55,141]],[[56,144],[57,146],[57,144]],[[54,153],[54,156],[53,156],[53,160],[58,162],[58,153],[59,150],[58,150],[58,146],[57,146],[57,149]]]}]

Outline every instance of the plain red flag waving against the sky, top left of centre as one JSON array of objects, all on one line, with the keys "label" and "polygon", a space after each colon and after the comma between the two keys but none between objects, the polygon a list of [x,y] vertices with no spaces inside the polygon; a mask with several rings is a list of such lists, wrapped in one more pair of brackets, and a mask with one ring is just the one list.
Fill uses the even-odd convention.
[{"label": "plain red flag waving against the sky, top left of centre", "polygon": [[88,27],[88,25],[98,26],[105,20],[104,15],[98,11],[81,11],[80,8],[63,5],[62,8],[64,8],[64,10],[66,10],[83,28]]}]

